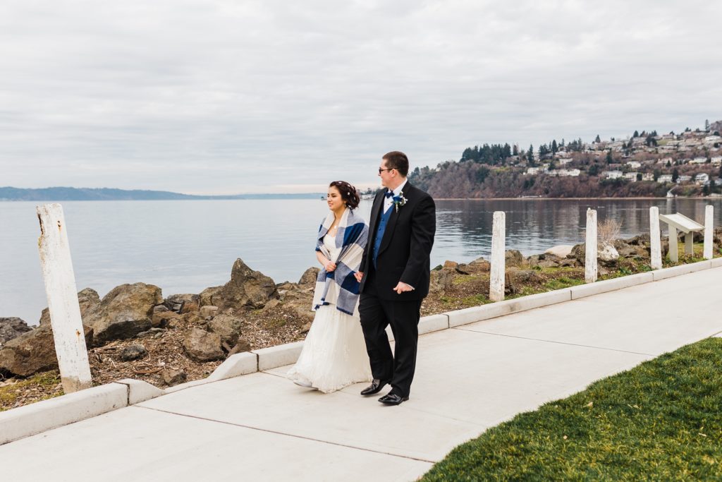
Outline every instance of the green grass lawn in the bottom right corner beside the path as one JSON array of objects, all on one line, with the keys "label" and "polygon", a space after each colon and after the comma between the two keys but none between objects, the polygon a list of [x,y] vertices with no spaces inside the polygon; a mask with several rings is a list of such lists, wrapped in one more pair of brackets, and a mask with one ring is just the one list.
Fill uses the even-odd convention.
[{"label": "green grass lawn in the bottom right corner beside the path", "polygon": [[722,480],[722,338],[522,413],[423,481]]}]

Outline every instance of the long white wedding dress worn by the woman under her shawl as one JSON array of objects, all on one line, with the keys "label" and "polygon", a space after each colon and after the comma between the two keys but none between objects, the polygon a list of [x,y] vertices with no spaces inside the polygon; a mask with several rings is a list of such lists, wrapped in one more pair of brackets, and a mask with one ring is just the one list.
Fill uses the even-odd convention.
[{"label": "long white wedding dress worn by the woman under her shawl", "polygon": [[[335,259],[341,251],[336,248],[333,236],[326,235],[323,245],[331,252],[331,259]],[[335,283],[333,288],[338,288]],[[353,316],[337,310],[334,304],[323,305],[316,310],[301,355],[287,376],[293,382],[324,393],[335,392],[353,383],[371,381],[358,303]]]}]

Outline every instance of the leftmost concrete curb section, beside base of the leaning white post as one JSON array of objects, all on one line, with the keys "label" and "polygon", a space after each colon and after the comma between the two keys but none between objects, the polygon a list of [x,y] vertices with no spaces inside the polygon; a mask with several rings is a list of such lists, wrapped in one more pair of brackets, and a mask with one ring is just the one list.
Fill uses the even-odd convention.
[{"label": "leftmost concrete curb section, beside base of the leaning white post", "polygon": [[0,445],[125,407],[128,392],[109,383],[0,412]]}]

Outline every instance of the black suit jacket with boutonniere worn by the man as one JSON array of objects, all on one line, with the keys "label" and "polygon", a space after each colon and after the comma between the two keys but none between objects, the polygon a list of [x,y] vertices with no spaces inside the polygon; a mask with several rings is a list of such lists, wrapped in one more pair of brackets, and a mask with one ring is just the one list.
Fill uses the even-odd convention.
[{"label": "black suit jacket with boutonniere worn by the man", "polygon": [[[383,209],[384,192],[378,192],[373,200],[369,223],[369,239],[361,260],[359,271],[364,273],[361,293],[364,293],[369,270],[374,270],[373,245],[378,220]],[[377,268],[373,276],[375,293],[382,299],[410,301],[425,298],[429,294],[430,254],[436,231],[436,206],[434,200],[409,182],[401,190],[406,204],[396,210],[391,207],[386,231],[378,250]],[[393,291],[399,281],[412,285],[414,291],[398,294]]]}]

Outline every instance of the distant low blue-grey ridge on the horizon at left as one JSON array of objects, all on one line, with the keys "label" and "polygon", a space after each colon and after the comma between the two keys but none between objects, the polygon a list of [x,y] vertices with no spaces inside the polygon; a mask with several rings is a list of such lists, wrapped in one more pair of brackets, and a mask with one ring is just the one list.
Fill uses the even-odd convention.
[{"label": "distant low blue-grey ridge on the horizon at left", "polygon": [[22,189],[0,187],[0,201],[174,201],[183,199],[318,199],[322,193],[302,194],[235,194],[231,196],[196,196],[170,191],[143,189],[45,187]]}]

